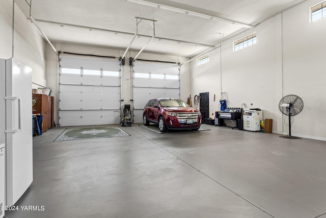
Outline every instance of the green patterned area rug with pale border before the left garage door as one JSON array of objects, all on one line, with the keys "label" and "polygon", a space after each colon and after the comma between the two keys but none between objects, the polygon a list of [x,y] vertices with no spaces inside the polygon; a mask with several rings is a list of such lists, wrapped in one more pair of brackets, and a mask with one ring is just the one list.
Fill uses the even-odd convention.
[{"label": "green patterned area rug with pale border before the left garage door", "polygon": [[129,136],[119,127],[89,127],[81,129],[65,129],[54,141],[69,141],[77,139]]}]

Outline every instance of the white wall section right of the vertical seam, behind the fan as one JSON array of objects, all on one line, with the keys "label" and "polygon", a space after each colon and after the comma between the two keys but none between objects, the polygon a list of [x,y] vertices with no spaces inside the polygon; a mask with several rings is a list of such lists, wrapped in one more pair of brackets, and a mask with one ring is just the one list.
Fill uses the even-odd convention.
[{"label": "white wall section right of the vertical seam, behind the fan", "polygon": [[305,103],[293,131],[326,139],[326,18],[309,22],[306,1],[283,13],[283,93],[297,94]]}]

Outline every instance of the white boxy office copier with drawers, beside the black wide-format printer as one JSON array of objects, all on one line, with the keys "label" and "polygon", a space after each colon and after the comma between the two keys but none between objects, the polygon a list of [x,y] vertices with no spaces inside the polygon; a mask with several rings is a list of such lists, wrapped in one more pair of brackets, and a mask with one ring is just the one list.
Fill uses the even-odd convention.
[{"label": "white boxy office copier with drawers, beside the black wide-format printer", "polygon": [[259,108],[245,108],[243,113],[243,130],[260,131],[260,120],[263,119],[263,111]]}]

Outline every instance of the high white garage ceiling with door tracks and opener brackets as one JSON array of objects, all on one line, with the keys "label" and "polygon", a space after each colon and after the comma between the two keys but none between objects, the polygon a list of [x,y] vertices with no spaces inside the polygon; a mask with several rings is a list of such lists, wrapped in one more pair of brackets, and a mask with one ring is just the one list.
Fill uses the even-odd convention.
[{"label": "high white garage ceiling with door tracks and opener brackets", "polygon": [[[247,30],[219,20],[191,15],[192,12],[256,26],[305,0],[15,0],[26,17],[37,21],[52,42],[85,44],[129,51],[193,57],[221,39]],[[139,3],[135,3],[139,2]],[[155,3],[149,6],[147,3]],[[160,8],[159,8],[160,6]],[[172,8],[167,10],[164,6]],[[185,12],[177,12],[182,9]],[[137,25],[135,17],[143,17]],[[140,19],[138,20],[140,21]]]}]

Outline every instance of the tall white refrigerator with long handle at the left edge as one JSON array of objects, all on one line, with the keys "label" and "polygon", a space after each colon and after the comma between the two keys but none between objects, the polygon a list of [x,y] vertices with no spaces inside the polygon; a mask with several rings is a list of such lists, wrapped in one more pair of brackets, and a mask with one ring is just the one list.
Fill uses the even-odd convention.
[{"label": "tall white refrigerator with long handle at the left edge", "polygon": [[12,206],[33,182],[32,69],[13,58],[0,59],[1,143],[5,205]]}]

